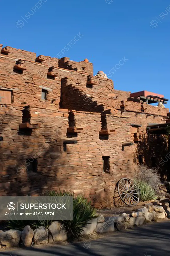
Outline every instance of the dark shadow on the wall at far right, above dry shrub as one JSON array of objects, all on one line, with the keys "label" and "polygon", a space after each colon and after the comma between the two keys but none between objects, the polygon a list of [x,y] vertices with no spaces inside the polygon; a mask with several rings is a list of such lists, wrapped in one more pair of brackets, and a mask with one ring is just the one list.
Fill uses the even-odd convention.
[{"label": "dark shadow on the wall at far right, above dry shrub", "polygon": [[137,146],[136,159],[139,164],[145,164],[148,168],[156,168],[162,181],[165,181],[170,180],[168,153],[168,136],[142,135]]}]

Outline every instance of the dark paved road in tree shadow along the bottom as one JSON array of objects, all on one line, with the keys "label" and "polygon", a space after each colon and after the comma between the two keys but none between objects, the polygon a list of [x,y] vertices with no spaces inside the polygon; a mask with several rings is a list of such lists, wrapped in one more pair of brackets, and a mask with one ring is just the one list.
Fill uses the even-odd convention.
[{"label": "dark paved road in tree shadow along the bottom", "polygon": [[[90,246],[91,243],[91,246]],[[89,247],[85,249],[84,247]],[[168,256],[170,222],[154,223],[126,232],[115,232],[103,239],[66,246],[19,249],[0,252],[1,256]]]}]

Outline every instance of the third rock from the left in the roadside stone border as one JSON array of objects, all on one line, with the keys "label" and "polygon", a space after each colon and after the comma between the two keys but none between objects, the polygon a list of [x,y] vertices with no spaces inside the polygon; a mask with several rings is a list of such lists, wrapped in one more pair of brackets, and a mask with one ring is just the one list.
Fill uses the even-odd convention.
[{"label": "third rock from the left in the roadside stone border", "polygon": [[35,244],[47,244],[48,243],[48,229],[39,227],[34,231],[34,243]]}]

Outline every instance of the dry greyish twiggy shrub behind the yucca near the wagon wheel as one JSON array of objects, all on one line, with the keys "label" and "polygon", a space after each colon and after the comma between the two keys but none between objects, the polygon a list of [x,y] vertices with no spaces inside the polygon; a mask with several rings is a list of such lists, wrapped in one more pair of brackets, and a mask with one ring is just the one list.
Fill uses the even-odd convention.
[{"label": "dry greyish twiggy shrub behind the yucca near the wagon wheel", "polygon": [[160,175],[156,168],[149,169],[147,166],[140,165],[136,171],[135,179],[146,182],[155,193],[159,195],[159,186],[161,185]]}]

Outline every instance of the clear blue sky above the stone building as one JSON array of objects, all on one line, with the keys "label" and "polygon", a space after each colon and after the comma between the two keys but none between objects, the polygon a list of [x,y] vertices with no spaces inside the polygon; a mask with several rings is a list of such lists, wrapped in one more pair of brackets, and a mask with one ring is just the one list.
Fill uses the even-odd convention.
[{"label": "clear blue sky above the stone building", "polygon": [[0,21],[4,47],[55,57],[69,43],[64,56],[88,58],[94,74],[109,73],[125,57],[110,72],[115,89],[147,90],[170,100],[169,0],[1,0]]}]

